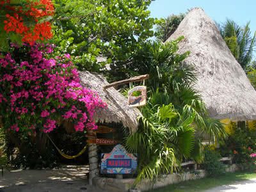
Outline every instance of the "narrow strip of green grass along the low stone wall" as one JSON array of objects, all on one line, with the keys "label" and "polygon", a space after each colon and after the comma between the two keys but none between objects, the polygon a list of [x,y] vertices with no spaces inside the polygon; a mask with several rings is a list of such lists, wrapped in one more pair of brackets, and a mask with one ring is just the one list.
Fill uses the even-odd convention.
[{"label": "narrow strip of green grass along the low stone wall", "polygon": [[236,172],[219,175],[218,177],[206,177],[204,179],[188,180],[179,184],[172,184],[164,188],[157,188],[151,191],[157,192],[185,192],[185,191],[201,191],[215,188],[224,184],[232,184],[237,181],[256,178],[256,173]]}]

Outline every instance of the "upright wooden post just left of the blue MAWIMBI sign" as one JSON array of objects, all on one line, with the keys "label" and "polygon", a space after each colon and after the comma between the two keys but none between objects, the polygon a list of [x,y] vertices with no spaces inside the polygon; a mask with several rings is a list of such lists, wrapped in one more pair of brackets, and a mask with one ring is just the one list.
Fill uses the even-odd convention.
[{"label": "upright wooden post just left of the blue MAWIMBI sign", "polygon": [[98,169],[98,155],[97,155],[97,145],[88,143],[88,150],[89,150],[89,184],[92,186],[92,180],[94,177],[99,176],[99,169]]}]

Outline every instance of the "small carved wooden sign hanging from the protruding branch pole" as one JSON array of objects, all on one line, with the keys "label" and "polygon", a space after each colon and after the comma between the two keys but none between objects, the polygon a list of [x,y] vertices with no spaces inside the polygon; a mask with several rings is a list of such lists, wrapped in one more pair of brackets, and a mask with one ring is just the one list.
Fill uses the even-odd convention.
[{"label": "small carved wooden sign hanging from the protruding branch pole", "polygon": [[[141,92],[140,96],[132,96],[133,92]],[[147,86],[136,86],[128,92],[128,106],[140,107],[145,106],[147,100]]]}]

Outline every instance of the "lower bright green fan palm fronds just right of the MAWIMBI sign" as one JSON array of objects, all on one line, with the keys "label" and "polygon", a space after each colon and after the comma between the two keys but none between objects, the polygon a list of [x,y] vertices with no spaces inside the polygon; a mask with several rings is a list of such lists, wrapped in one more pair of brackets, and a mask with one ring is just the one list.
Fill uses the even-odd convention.
[{"label": "lower bright green fan palm fronds just right of the MAWIMBI sign", "polygon": [[195,130],[191,123],[195,116],[185,118],[172,104],[149,104],[141,112],[141,126],[126,140],[127,149],[140,154],[134,184],[146,177],[154,179],[161,173],[173,172],[194,147]]}]

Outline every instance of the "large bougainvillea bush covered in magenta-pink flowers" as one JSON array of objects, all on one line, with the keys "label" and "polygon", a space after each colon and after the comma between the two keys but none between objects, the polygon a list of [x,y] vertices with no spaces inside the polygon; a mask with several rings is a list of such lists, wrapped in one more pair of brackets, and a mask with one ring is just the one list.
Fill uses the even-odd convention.
[{"label": "large bougainvillea bush covered in magenta-pink flowers", "polygon": [[106,103],[81,86],[68,54],[47,59],[51,45],[11,47],[12,52],[0,52],[0,120],[5,131],[51,132],[61,118],[74,122],[76,131],[97,129],[95,108]]}]

